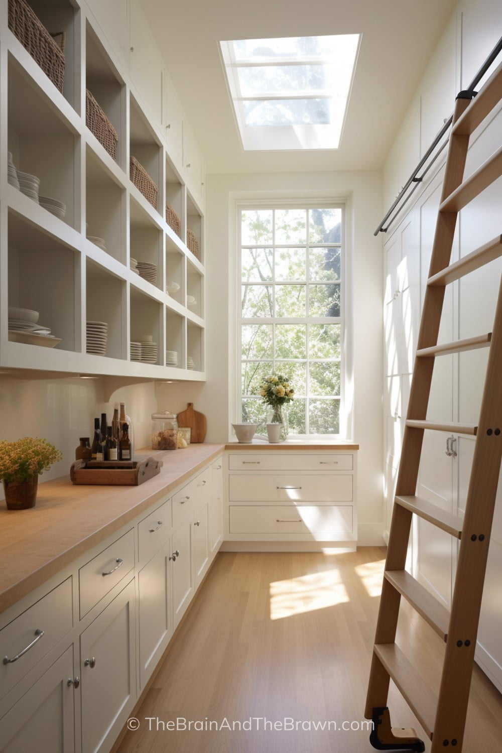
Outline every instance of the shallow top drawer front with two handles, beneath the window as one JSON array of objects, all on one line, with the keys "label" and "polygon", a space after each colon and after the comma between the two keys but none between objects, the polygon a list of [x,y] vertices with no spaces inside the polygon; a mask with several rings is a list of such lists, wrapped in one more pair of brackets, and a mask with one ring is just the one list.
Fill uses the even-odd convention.
[{"label": "shallow top drawer front with two handles, beneath the window", "polygon": [[351,471],[354,467],[352,453],[236,453],[228,456],[230,471]]}]

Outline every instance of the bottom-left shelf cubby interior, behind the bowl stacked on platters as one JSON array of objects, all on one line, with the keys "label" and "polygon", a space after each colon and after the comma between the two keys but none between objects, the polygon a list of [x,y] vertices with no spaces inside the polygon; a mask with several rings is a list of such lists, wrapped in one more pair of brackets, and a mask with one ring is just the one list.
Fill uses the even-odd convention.
[{"label": "bottom-left shelf cubby interior, behind the bowl stacked on platters", "polygon": [[59,350],[81,347],[80,265],[74,248],[8,212],[8,305],[38,311]]}]

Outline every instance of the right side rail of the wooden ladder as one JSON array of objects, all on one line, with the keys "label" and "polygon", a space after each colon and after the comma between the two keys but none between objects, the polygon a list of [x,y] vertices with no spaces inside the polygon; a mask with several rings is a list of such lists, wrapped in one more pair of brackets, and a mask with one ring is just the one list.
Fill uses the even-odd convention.
[{"label": "right side rail of the wooden ladder", "polygon": [[[491,524],[502,460],[502,279],[486,367],[479,431],[467,489],[464,528],[458,556],[449,638],[438,698],[434,737],[461,746],[469,700]],[[452,694],[452,688],[455,693]],[[452,700],[453,699],[453,700]],[[451,744],[451,743],[450,743]],[[458,749],[461,749],[458,748]],[[435,750],[433,745],[432,750]]]}]

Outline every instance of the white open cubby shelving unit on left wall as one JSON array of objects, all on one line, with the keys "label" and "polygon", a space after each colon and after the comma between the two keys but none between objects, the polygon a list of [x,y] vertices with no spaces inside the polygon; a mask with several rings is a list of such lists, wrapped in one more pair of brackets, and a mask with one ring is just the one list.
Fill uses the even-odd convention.
[{"label": "white open cubby shelving unit on left wall", "polygon": [[[179,157],[142,108],[85,2],[29,5],[50,32],[65,32],[65,76],[60,92],[8,28],[2,3],[0,367],[204,380],[204,219]],[[86,90],[117,135],[114,154],[87,126]],[[40,178],[42,196],[65,203],[64,217],[8,183],[8,151],[18,170]],[[131,180],[131,157],[157,186],[157,206]],[[174,229],[167,203],[179,220]],[[187,246],[187,230],[198,256]],[[156,281],[135,273],[131,259],[155,264]],[[8,331],[8,306],[38,311],[56,346],[17,341]],[[90,320],[108,324],[106,355],[87,353]],[[156,363],[131,358],[130,344],[144,338],[157,343]],[[166,350],[178,353],[176,366],[172,356],[166,364]]]}]

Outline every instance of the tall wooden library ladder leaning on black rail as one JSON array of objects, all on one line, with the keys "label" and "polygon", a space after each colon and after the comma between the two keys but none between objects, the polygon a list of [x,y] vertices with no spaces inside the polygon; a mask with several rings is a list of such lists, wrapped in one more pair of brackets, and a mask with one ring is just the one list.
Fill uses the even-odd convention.
[{"label": "tall wooden library ladder leaning on black rail", "polygon": [[[414,730],[396,730],[391,727],[387,708],[391,678],[431,738],[431,753],[444,751],[450,746],[459,753],[464,738],[488,544],[502,458],[502,285],[490,333],[446,345],[438,345],[437,338],[446,285],[502,255],[502,236],[497,236],[448,266],[458,212],[502,175],[500,147],[476,172],[464,180],[470,135],[502,99],[502,64],[475,95],[471,90],[461,92],[455,102],[403,433],[365,710],[366,718],[373,719],[370,742],[378,750],[424,751],[424,743],[418,739]],[[481,347],[489,347],[490,350],[478,425],[426,420],[435,358]],[[464,520],[415,496],[424,431],[430,429],[476,437]],[[460,539],[450,612],[405,570],[413,514]],[[434,689],[421,678],[405,652],[395,643],[401,596],[410,602],[446,642],[437,698],[434,697]]]}]

